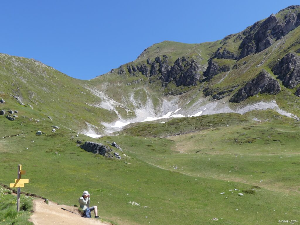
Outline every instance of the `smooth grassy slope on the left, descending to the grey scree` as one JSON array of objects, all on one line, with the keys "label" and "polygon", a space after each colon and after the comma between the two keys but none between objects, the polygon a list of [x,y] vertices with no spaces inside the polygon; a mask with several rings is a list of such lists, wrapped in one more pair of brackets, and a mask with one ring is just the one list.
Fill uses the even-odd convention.
[{"label": "smooth grassy slope on the left, descending to the grey scree", "polygon": [[[33,59],[1,54],[0,78],[0,98],[7,102],[1,109],[19,110],[39,119],[51,116],[54,122],[77,131],[86,127],[85,121],[101,128],[102,121],[116,119],[114,112],[90,106],[101,100],[85,88],[88,81],[71,78]],[[13,95],[21,98],[25,107]]]}]

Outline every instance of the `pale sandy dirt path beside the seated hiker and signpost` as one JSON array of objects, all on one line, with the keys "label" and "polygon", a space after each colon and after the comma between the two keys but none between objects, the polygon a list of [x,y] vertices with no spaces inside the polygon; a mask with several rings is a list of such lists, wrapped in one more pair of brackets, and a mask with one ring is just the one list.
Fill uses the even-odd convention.
[{"label": "pale sandy dirt path beside the seated hiker and signpost", "polygon": [[[33,201],[33,214],[29,221],[35,225],[108,225],[109,223],[101,223],[98,219],[88,219],[76,215],[74,213],[62,210],[65,208],[75,213],[79,213],[76,207],[68,205],[57,205],[49,201],[49,205],[44,203],[43,199],[35,199]],[[94,215],[94,212],[92,212]]]}]

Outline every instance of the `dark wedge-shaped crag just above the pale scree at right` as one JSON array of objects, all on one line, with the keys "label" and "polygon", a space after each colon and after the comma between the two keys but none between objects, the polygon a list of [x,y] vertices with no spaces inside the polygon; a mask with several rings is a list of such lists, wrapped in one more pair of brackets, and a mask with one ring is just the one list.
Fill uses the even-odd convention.
[{"label": "dark wedge-shaped crag just above the pale scree at right", "polygon": [[268,93],[276,95],[281,90],[277,80],[271,78],[270,74],[262,70],[258,76],[249,82],[242,88],[240,88],[235,95],[229,100],[229,102],[240,103],[250,96],[254,96],[257,93]]}]

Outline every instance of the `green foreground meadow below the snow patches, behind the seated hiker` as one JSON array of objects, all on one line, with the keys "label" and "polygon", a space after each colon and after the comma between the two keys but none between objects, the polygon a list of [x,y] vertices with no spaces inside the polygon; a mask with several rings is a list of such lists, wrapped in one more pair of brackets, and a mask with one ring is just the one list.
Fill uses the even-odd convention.
[{"label": "green foreground meadow below the snow patches, behind the seated hiker", "polygon": [[[234,119],[229,121],[232,116]],[[261,120],[274,117],[274,120],[255,122],[254,117]],[[149,137],[146,133],[142,134],[146,137],[133,137],[128,135],[129,131],[118,137],[99,139],[101,143],[116,141],[121,145],[127,157],[123,155],[118,161],[76,147],[77,139],[92,139],[81,135],[72,139],[74,134],[64,128],[42,136],[28,133],[0,139],[0,169],[5,171],[1,182],[10,183],[16,165],[22,164],[27,170],[24,178],[30,179],[24,191],[73,205],[87,189],[101,217],[118,224],[162,224],[165,221],[168,224],[184,221],[210,224],[213,217],[219,218],[220,224],[257,224],[257,221],[270,224],[279,218],[298,216],[296,193],[300,190],[295,176],[299,170],[299,152],[295,149],[298,131],[293,134],[295,137],[290,134],[292,128],[299,127],[299,122],[280,118],[270,111],[268,115],[221,114],[173,119],[166,126],[172,131],[177,124],[182,132],[190,132],[190,126],[185,125],[196,121],[199,124],[195,128],[199,129],[192,129],[196,133],[174,136],[173,140]],[[164,125],[157,124],[157,131],[163,136],[168,130]],[[10,133],[19,126],[11,128]],[[34,130],[36,124],[28,126]],[[280,130],[280,134],[274,130]],[[148,131],[150,133],[151,129]],[[244,131],[246,135],[238,137]],[[257,131],[264,132],[259,133],[259,140],[254,139]],[[0,136],[6,132],[2,130]],[[251,144],[247,143],[250,139]],[[273,142],[273,139],[281,142]],[[210,146],[211,143],[214,146]],[[277,143],[284,145],[291,157]],[[259,183],[261,179],[263,182]],[[251,189],[253,185],[262,188],[255,187],[255,194],[243,197],[235,191],[229,192],[234,188]],[[129,201],[141,206],[130,205]]]}]

